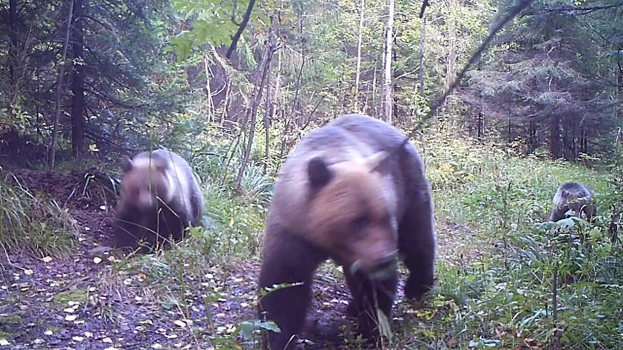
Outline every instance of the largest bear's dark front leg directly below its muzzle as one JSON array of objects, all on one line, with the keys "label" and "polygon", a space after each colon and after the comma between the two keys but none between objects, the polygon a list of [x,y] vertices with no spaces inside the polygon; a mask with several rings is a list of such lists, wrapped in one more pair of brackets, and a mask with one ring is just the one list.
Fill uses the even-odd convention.
[{"label": "largest bear's dark front leg directly below its muzzle", "polygon": [[376,306],[378,305],[385,316],[391,319],[392,305],[396,298],[397,272],[386,280],[374,283],[359,272],[352,275],[348,272],[348,268],[345,268],[344,275],[353,296],[353,300],[346,308],[346,315],[356,316],[359,319],[359,334],[376,343],[380,339]]}]

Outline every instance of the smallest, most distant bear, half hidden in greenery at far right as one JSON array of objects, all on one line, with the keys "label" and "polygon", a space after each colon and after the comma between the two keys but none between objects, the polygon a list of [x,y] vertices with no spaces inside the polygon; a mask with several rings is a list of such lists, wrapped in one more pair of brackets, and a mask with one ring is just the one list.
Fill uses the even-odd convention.
[{"label": "smallest, most distant bear, half hidden in greenery at far right", "polygon": [[564,182],[558,187],[553,202],[556,207],[551,211],[549,221],[555,222],[568,217],[569,209],[573,209],[574,216],[583,217],[589,222],[596,215],[592,192],[578,182]]}]

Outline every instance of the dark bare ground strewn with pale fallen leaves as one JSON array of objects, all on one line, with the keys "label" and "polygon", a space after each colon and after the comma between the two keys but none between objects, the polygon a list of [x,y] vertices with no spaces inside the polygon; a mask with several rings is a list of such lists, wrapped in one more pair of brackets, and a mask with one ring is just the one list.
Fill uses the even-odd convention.
[{"label": "dark bare ground strewn with pale fallen leaves", "polygon": [[[114,208],[107,210],[103,196],[77,195],[84,173],[22,170],[15,175],[32,191],[44,192],[67,208],[78,230],[66,257],[0,253],[0,348],[209,349],[214,338],[255,318],[257,258],[215,263],[204,267],[200,277],[188,273],[178,291],[146,270],[126,268],[128,258],[108,248],[115,234]],[[439,220],[436,232],[438,258],[449,265],[470,263],[490,247],[465,225]],[[130,259],[158,263],[149,257]],[[335,267],[321,268],[313,290],[310,320],[331,329],[350,324],[343,316],[350,295]],[[404,315],[404,308],[396,310],[402,311],[394,314],[394,326],[403,317],[415,317]],[[316,340],[307,348],[332,346]]]}]

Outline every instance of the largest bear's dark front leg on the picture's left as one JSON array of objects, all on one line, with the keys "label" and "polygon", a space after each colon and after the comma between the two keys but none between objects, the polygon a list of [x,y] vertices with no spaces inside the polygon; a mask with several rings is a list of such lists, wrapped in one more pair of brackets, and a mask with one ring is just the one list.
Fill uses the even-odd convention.
[{"label": "largest bear's dark front leg on the picture's left", "polygon": [[[282,283],[302,282],[303,285],[287,286],[260,298],[260,319],[274,321],[281,330],[280,333],[268,332],[264,349],[267,345],[271,350],[295,347],[295,335],[300,336],[303,331],[311,300],[313,274],[324,260],[325,254],[295,235],[283,231],[265,235],[260,288],[272,288]],[[262,315],[263,312],[265,315]]]}]

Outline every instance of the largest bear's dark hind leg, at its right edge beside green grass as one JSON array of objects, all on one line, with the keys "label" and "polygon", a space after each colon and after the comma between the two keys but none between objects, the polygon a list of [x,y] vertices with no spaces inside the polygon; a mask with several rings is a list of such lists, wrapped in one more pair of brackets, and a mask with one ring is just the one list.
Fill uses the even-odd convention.
[{"label": "largest bear's dark hind leg, at its right edge beside green grass", "polygon": [[419,189],[412,196],[411,206],[398,226],[398,249],[409,269],[404,295],[420,299],[432,289],[435,269],[432,199],[427,189]]}]

